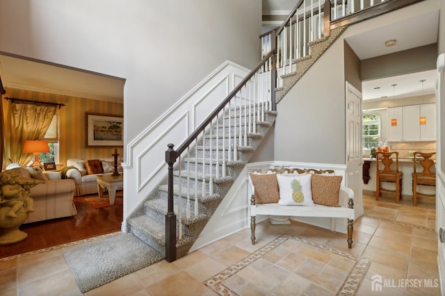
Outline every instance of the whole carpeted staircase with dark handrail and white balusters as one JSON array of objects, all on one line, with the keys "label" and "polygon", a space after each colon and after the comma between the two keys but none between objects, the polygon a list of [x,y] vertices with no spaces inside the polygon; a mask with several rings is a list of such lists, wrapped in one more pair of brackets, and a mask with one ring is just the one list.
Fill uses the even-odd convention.
[{"label": "whole carpeted staircase with dark handrail and white balusters", "polygon": [[[406,0],[391,2],[396,3],[390,5],[393,10],[410,5]],[[396,7],[397,3],[400,7]],[[184,143],[176,150],[174,145],[169,145],[165,151],[168,174],[127,218],[127,231],[160,256],[165,254],[168,262],[188,254],[274,124],[275,104],[339,38],[347,24],[365,19],[351,17],[353,21],[346,22],[339,11],[347,9],[337,7],[337,1],[333,5],[326,1],[324,11],[318,4],[316,13],[310,8],[309,15],[305,5],[308,4],[300,0],[280,28],[261,36],[264,58],[259,65]],[[379,5],[382,4],[376,6]],[[332,6],[334,12],[331,12]],[[353,9],[348,10],[355,13]],[[366,8],[366,12],[372,13],[372,8]],[[332,27],[331,17],[342,18],[343,24]],[[308,19],[310,22],[316,19],[318,24],[307,24],[307,29]],[[323,28],[327,32],[323,32]],[[299,36],[300,31],[311,35]],[[298,37],[293,39],[293,35]]]}]

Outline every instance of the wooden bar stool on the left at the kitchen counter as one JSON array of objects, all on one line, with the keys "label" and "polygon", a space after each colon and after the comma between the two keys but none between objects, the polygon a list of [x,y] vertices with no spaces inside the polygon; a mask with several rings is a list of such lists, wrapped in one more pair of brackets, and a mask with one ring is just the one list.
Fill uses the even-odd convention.
[{"label": "wooden bar stool on the left at the kitchen counter", "polygon": [[[376,152],[377,156],[377,178],[375,179],[375,200],[378,200],[382,192],[391,192],[396,195],[396,203],[402,199],[402,177],[403,172],[398,170],[398,152]],[[391,156],[396,156],[394,159]],[[392,163],[396,163],[396,170],[391,170]],[[380,167],[383,165],[382,169]],[[382,188],[380,182],[389,182],[396,184],[396,190]]]}]

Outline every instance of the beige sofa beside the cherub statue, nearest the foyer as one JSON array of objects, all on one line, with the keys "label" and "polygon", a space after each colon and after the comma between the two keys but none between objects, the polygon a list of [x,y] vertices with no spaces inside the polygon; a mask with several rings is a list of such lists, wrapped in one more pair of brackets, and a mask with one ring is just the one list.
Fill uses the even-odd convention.
[{"label": "beige sofa beside the cherub statue, nearest the foyer", "polygon": [[73,180],[48,179],[41,170],[31,167],[13,167],[10,170],[17,170],[24,178],[44,181],[31,188],[34,211],[29,213],[24,224],[76,215]]}]

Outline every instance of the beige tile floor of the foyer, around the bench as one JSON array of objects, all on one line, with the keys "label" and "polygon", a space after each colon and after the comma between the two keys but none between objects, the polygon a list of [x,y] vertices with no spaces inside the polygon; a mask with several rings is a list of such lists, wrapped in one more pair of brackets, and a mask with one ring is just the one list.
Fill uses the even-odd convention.
[{"label": "beige tile floor of the foyer, around the bench", "polygon": [[[352,249],[345,234],[300,222],[270,225],[266,220],[257,225],[256,245],[250,243],[250,229],[243,229],[174,263],[161,261],[86,295],[216,295],[204,281],[233,268],[283,233],[371,260],[357,295],[440,295],[438,287],[426,287],[439,279],[437,236],[432,230],[435,211],[372,198],[364,198],[364,211],[365,216],[354,223]],[[78,246],[1,259],[0,295],[82,295],[62,255],[64,249]],[[239,295],[335,295],[351,265],[339,256],[289,240],[236,272],[225,285]],[[375,274],[382,277],[380,293],[371,290]],[[415,288],[412,279],[426,280]]]}]

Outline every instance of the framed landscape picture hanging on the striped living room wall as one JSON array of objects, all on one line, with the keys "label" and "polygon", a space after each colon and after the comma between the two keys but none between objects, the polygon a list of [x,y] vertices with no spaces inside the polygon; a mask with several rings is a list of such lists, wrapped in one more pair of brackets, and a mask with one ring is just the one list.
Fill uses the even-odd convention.
[{"label": "framed landscape picture hanging on the striped living room wall", "polygon": [[122,147],[124,117],[85,113],[86,147]]}]

